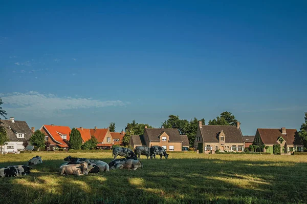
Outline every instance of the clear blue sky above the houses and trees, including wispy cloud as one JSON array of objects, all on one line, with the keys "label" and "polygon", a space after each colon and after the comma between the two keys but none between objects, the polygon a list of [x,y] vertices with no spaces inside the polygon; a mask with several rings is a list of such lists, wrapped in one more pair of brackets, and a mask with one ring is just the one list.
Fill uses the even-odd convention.
[{"label": "clear blue sky above the houses and trees, including wispy cloud", "polygon": [[0,97],[8,117],[121,131],[136,119],[232,112],[244,135],[299,128],[307,3],[7,1]]}]

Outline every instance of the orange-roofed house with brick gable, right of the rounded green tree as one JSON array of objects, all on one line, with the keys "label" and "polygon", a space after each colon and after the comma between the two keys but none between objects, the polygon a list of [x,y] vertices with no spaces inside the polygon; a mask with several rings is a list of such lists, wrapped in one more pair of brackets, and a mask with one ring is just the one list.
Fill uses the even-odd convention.
[{"label": "orange-roofed house with brick gable, right of the rounded green tree", "polygon": [[97,138],[99,142],[97,149],[111,149],[112,145],[115,144],[108,128],[98,129],[95,126],[94,129],[90,129],[90,135]]}]

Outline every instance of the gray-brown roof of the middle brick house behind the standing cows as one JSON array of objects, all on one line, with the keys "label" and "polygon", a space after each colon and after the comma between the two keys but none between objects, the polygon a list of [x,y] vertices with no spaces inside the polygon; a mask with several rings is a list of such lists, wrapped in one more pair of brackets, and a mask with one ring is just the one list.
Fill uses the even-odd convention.
[{"label": "gray-brown roof of the middle brick house behind the standing cows", "polygon": [[179,134],[178,129],[145,128],[145,132],[147,132],[149,141],[160,141],[158,136],[163,132],[169,136],[169,141],[182,141],[182,137]]}]

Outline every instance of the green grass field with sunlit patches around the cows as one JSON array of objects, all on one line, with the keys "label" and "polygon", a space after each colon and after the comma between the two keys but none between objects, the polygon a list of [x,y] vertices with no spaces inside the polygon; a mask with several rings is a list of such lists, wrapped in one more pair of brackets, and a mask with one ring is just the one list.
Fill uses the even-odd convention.
[{"label": "green grass field with sunlit patches around the cows", "polygon": [[112,153],[33,153],[0,156],[0,167],[43,164],[30,175],[0,178],[0,203],[306,203],[307,156],[170,154],[143,169],[60,176],[63,158],[106,162]]}]

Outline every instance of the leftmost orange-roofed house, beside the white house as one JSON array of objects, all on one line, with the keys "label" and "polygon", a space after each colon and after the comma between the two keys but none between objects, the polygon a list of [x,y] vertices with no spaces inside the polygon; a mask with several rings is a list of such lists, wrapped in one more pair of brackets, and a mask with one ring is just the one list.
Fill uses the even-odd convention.
[{"label": "leftmost orange-roofed house, beside the white house", "polygon": [[47,149],[55,150],[57,148],[69,148],[69,135],[71,132],[68,126],[43,125],[40,131],[45,134],[45,140],[48,142]]}]

